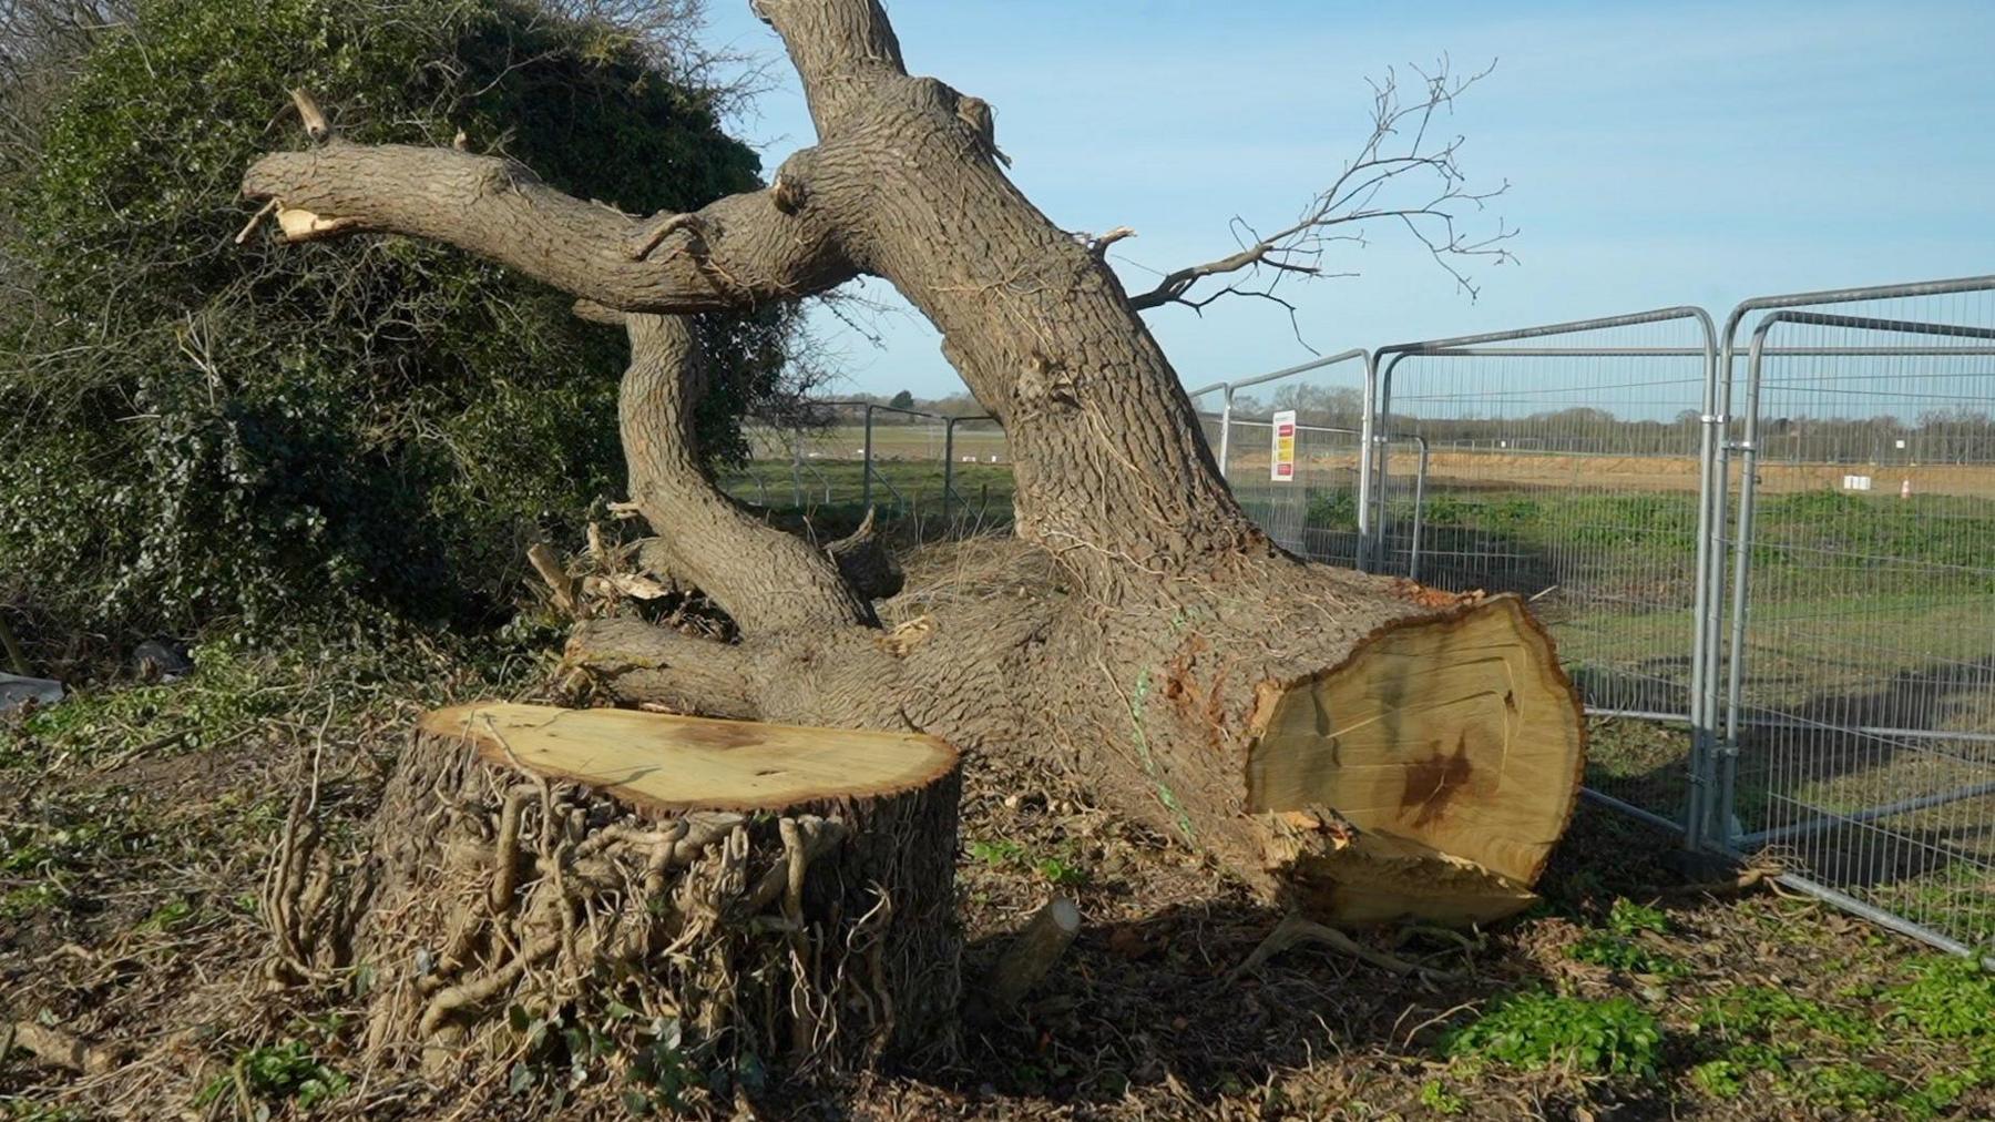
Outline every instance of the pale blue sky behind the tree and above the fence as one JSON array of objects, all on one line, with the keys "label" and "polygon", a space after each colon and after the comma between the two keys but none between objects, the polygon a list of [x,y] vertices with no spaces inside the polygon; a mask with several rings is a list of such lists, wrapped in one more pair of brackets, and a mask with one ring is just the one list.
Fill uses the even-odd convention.
[{"label": "pale blue sky behind the tree and above the fence", "polygon": [[[774,166],[814,140],[780,42],[710,0],[708,42],[770,60],[734,130]],[[1367,76],[1496,62],[1454,110],[1486,222],[1518,264],[1470,301],[1404,236],[1333,258],[1357,280],[1285,289],[1323,351],[1776,291],[1995,272],[1995,4],[1339,4],[888,0],[910,70],[998,110],[1011,178],[1067,230],[1131,226],[1131,289],[1279,226],[1369,130]],[[844,389],[960,389],[936,331],[884,281],[884,345],[818,315]],[[1231,299],[1145,313],[1189,385],[1307,361],[1287,311]]]}]

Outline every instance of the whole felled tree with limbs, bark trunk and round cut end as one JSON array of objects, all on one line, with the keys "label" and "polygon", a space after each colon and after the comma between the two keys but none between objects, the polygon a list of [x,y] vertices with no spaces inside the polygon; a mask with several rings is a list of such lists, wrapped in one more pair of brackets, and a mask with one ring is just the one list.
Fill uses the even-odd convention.
[{"label": "whole felled tree with limbs, bark trunk and round cut end", "polygon": [[[1137,315],[1197,299],[1211,276],[1315,272],[1353,218],[1414,224],[1436,256],[1474,250],[1450,222],[1418,226],[1444,208],[1375,208],[1371,184],[1400,160],[1375,138],[1303,224],[1131,297],[1103,262],[1125,232],[1077,238],[1039,214],[1003,174],[990,106],[910,76],[878,2],[756,12],[818,132],[764,190],[634,218],[509,160],[345,144],[311,112],[315,144],[257,160],[243,182],[289,240],[449,242],[628,331],[630,499],[662,537],[662,565],[740,639],[595,621],[571,659],[630,703],[1031,753],[1317,914],[1476,920],[1520,906],[1582,757],[1548,637],[1516,599],[1436,595],[1275,547]],[[1472,198],[1446,152],[1404,160],[1438,168],[1444,200]],[[942,331],[1017,473],[1009,571],[892,635],[850,555],[778,533],[712,485],[688,421],[704,387],[690,317],[862,274]]]}]

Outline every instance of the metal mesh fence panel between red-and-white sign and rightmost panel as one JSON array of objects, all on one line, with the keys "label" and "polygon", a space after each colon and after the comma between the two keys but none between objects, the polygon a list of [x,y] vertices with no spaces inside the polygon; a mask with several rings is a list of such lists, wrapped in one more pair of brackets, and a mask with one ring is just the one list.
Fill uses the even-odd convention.
[{"label": "metal mesh fence panel between red-and-white sign and rightmost panel", "polygon": [[[1598,715],[1684,723],[1702,639],[1698,525],[1710,317],[1694,307],[1383,347],[1377,559],[1518,593]],[[1418,521],[1414,519],[1418,515]],[[1692,755],[1640,723],[1596,737],[1596,795],[1682,823]]]}]

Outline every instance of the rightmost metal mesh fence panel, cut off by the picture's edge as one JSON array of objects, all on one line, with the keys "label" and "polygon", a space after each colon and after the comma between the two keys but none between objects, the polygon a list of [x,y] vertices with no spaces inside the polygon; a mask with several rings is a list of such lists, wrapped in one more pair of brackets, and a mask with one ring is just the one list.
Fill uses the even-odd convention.
[{"label": "rightmost metal mesh fence panel, cut off by the picture's edge", "polygon": [[1712,831],[1969,950],[1995,946],[1995,280],[1931,287],[1774,311],[1734,367]]}]

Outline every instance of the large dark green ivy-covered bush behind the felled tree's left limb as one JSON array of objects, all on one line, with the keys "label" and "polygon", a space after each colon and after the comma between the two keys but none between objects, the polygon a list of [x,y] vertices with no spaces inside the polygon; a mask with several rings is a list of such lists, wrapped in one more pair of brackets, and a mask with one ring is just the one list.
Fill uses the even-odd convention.
[{"label": "large dark green ivy-covered bush behind the felled tree's left limb", "polygon": [[[401,238],[235,244],[243,170],[305,144],[293,86],[349,140],[463,132],[632,214],[758,182],[654,38],[541,0],[140,0],[0,164],[0,611],[495,623],[525,545],[620,497],[624,341],[565,295]],[[784,391],[788,323],[718,333],[728,457]]]}]

